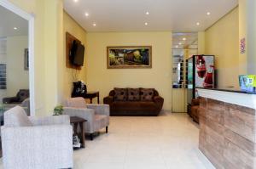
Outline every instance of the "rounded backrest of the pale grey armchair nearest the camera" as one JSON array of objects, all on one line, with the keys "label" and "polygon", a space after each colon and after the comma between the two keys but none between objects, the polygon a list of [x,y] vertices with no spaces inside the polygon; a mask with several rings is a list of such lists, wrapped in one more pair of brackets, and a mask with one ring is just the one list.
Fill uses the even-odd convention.
[{"label": "rounded backrest of the pale grey armchair nearest the camera", "polygon": [[32,127],[32,122],[26,115],[25,110],[20,106],[6,111],[4,113],[4,126],[5,127]]}]

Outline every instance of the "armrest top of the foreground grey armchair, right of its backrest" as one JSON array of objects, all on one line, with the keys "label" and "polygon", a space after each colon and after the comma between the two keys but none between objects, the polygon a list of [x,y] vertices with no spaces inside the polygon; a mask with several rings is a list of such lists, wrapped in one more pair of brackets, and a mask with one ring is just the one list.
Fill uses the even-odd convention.
[{"label": "armrest top of the foreground grey armchair, right of its backrest", "polygon": [[70,124],[69,115],[51,115],[46,117],[29,116],[28,118],[34,126]]}]

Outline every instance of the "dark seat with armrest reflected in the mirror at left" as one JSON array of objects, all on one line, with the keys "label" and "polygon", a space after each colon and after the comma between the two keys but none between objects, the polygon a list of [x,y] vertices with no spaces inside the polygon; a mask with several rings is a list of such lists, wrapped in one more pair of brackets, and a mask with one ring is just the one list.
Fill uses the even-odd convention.
[{"label": "dark seat with armrest reflected in the mirror at left", "polygon": [[3,98],[3,104],[21,104],[27,98],[29,98],[29,90],[20,89],[15,97]]}]

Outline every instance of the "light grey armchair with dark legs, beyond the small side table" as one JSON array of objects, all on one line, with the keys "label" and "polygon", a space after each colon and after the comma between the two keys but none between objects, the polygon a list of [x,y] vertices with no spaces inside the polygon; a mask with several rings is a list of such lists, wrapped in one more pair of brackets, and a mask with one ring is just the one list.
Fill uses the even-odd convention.
[{"label": "light grey armchair with dark legs, beyond the small side table", "polygon": [[84,123],[84,131],[90,133],[91,140],[93,139],[93,133],[104,127],[108,132],[108,104],[85,104],[84,98],[71,98],[67,99],[64,106],[64,115],[79,116],[87,120]]}]

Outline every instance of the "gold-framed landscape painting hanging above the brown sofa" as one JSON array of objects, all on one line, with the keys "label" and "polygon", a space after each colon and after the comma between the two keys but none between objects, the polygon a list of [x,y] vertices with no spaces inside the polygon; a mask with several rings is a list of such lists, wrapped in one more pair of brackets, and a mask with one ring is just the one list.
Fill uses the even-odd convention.
[{"label": "gold-framed landscape painting hanging above the brown sofa", "polygon": [[152,47],[107,47],[107,60],[108,69],[152,68]]}]

